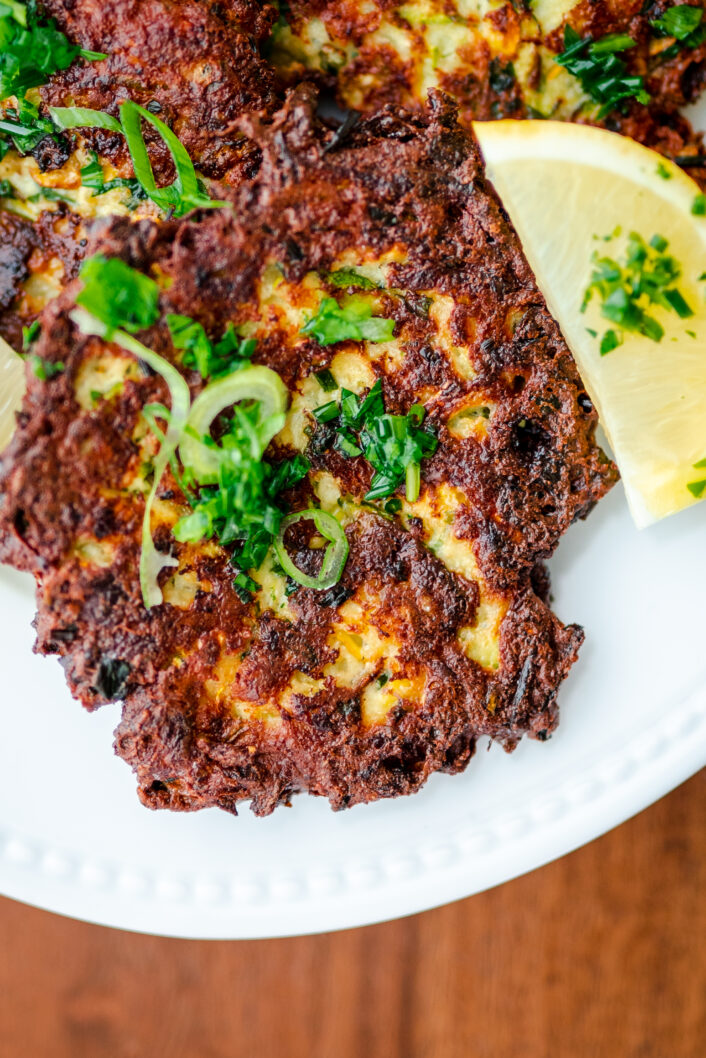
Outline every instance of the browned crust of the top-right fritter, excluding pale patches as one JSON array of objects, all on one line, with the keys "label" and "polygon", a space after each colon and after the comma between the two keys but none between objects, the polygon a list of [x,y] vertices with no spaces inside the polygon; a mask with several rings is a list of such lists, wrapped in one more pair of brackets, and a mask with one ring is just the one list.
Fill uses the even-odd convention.
[{"label": "browned crust of the top-right fritter, excluding pale patches", "polygon": [[[704,0],[688,2],[695,7],[706,6]],[[538,23],[532,32],[527,30],[528,20],[532,19],[531,4],[507,0],[485,16],[487,23],[492,24],[502,37],[500,53],[493,54],[488,40],[477,33],[472,43],[463,47],[458,70],[445,72],[439,69],[435,74],[436,83],[458,103],[464,125],[502,117],[550,117],[554,116],[551,113],[535,112],[532,101],[525,97],[515,76],[513,63],[523,61],[522,45],[530,44],[537,51],[529,84],[538,89],[546,76],[546,71],[542,71],[540,50],[548,49],[559,54],[563,50],[565,24],[571,24],[582,36],[590,34],[594,39],[610,34],[627,34],[636,47],[622,52],[620,57],[627,62],[630,73],[645,78],[653,102],[649,106],[630,102],[624,112],[616,110],[600,122],[579,109],[562,116],[599,124],[630,135],[677,161],[687,159],[690,175],[704,184],[706,166],[694,164],[696,159],[706,154],[703,135],[691,128],[678,108],[693,103],[704,90],[706,43],[696,48],[681,47],[675,56],[665,58],[673,41],[655,34],[651,22],[671,6],[672,0],[647,0],[647,3],[645,0],[581,0],[560,26],[544,36]],[[434,8],[433,14],[440,16],[445,5],[435,3]],[[279,75],[290,84],[313,77],[334,91],[343,106],[352,105],[366,114],[387,104],[406,107],[422,105],[426,88],[419,87],[420,55],[414,54],[415,45],[411,44],[410,54],[401,54],[402,50],[396,50],[384,35],[380,39],[374,36],[382,21],[387,19],[392,25],[403,30],[410,40],[414,39],[419,26],[414,21],[408,21],[404,15],[408,11],[410,19],[416,14],[423,22],[423,3],[401,5],[397,0],[365,3],[359,0],[289,0],[283,7],[283,18],[291,26],[294,37],[306,33],[311,19],[321,20],[336,48],[342,50],[342,55],[331,59],[330,65],[324,59],[323,69],[315,70],[307,69],[295,59],[289,65],[283,62],[283,55],[274,47],[272,56]],[[450,22],[463,21],[453,3],[446,6],[446,12]],[[469,17],[468,21],[473,24],[473,17]],[[276,32],[275,28],[273,40],[276,40]],[[423,47],[421,39],[417,36],[417,47]],[[345,51],[345,45],[349,51]],[[435,68],[433,56],[431,62]]]}]

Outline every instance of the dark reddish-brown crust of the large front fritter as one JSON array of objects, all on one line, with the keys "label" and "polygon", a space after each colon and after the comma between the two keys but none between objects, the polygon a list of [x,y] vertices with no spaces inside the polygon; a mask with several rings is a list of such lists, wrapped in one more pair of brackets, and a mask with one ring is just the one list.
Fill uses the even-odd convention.
[{"label": "dark reddish-brown crust of the large front fritter", "polygon": [[[297,790],[334,807],[411,792],[435,770],[463,769],[481,735],[508,749],[524,733],[547,737],[558,687],[582,639],[540,598],[546,583],[537,561],[616,472],[595,445],[595,412],[486,183],[474,140],[438,94],[426,114],[386,111],[340,146],[316,125],[313,106],[301,90],[271,123],[247,123],[263,161],[257,178],[233,193],[232,212],[160,226],[115,221],[99,249],[157,270],[162,312],[187,313],[216,335],[224,321],[253,320],[266,262],[276,261],[284,280],[296,285],[325,275],[345,252],[379,257],[402,247],[404,259],[388,277],[405,297],[380,296],[383,314],[397,321],[404,358],[374,367],[391,411],[409,406],[431,375],[427,405],[440,444],[424,463],[422,497],[440,484],[458,490],[453,532],[473,543],[481,588],[426,546],[419,519],[404,525],[360,508],[346,530],[341,594],[325,600],[300,587],[289,600],[292,619],[241,602],[221,548],[177,544],[161,525],[160,549],[206,587],[187,608],[146,610],[137,576],[144,499],[124,482],[141,459],[133,439],[141,409],[168,394],[161,378],[134,377],[112,400],[79,408],[76,379],[106,347],[71,323],[71,287],[46,310],[36,346],[66,370],[46,383],[29,376],[18,431],[0,464],[0,558],[37,578],[37,650],[61,656],[72,693],[89,708],[125,699],[117,752],[153,807],[234,811],[251,798],[267,813]],[[452,331],[468,348],[474,377],[453,376],[430,348],[429,318],[415,311],[422,291],[453,298]],[[143,339],[178,363],[163,323]],[[292,344],[272,320],[255,360],[294,390],[334,352],[313,339]],[[187,381],[196,393],[199,376]],[[493,402],[484,439],[449,434],[459,398]],[[275,446],[273,454],[287,452]],[[344,462],[328,450],[312,474],[322,469],[362,498],[369,480],[362,459]],[[165,505],[181,503],[169,475],[160,492]],[[287,498],[300,510],[312,496],[310,475]],[[87,559],[84,541],[97,542],[109,560]],[[306,568],[311,552],[293,547]],[[458,640],[477,618],[479,590],[495,592],[506,607],[497,668],[467,656]],[[383,722],[363,723],[363,688],[323,676],[346,599],[373,600],[379,635],[395,637],[402,671],[423,682],[422,695],[398,701]],[[216,674],[222,681],[229,664],[228,694],[210,697],[210,681]],[[280,704],[295,674],[322,679],[322,689],[292,693],[276,723],[243,719],[233,708],[234,699]]]}]

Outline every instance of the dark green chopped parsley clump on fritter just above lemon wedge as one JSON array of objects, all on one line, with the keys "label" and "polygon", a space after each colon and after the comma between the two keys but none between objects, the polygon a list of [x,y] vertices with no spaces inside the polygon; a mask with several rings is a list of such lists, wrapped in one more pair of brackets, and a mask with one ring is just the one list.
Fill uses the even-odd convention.
[{"label": "dark green chopped parsley clump on fritter just above lemon wedge", "polygon": [[623,110],[629,99],[648,104],[650,95],[645,79],[631,74],[619,52],[635,47],[626,34],[610,34],[600,40],[581,37],[571,25],[564,29],[564,50],[556,61],[578,78],[581,88],[600,104],[598,117],[613,110]]}]

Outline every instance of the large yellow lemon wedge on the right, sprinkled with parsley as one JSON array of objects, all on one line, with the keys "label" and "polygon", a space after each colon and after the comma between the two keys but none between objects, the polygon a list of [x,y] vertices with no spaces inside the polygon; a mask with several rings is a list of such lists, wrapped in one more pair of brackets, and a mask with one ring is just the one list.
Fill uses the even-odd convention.
[{"label": "large yellow lemon wedge on the right, sprinkled with parsley", "polygon": [[[696,503],[706,496],[706,217],[699,215],[706,199],[676,165],[603,129],[512,121],[474,127],[598,409],[636,525]],[[607,318],[595,290],[581,311],[595,259],[623,264],[636,245],[632,233],[648,247],[654,240],[681,269],[672,284],[681,299],[670,295],[676,309],[638,302],[648,329],[664,331],[658,341]]]}]

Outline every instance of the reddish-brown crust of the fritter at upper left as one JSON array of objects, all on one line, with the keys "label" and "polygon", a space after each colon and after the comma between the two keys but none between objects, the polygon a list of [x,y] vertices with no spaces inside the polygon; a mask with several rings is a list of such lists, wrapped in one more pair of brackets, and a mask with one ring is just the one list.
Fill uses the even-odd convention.
[{"label": "reddish-brown crust of the fritter at upper left", "polygon": [[[275,13],[252,0],[43,0],[69,39],[108,55],[74,62],[41,95],[52,106],[91,107],[117,115],[124,99],[166,122],[207,177],[232,182],[256,164],[252,145],[236,134],[246,110],[276,102],[271,66],[258,54]],[[122,136],[91,132],[102,154],[125,161]],[[162,140],[145,129],[155,165],[169,172]]]}]

